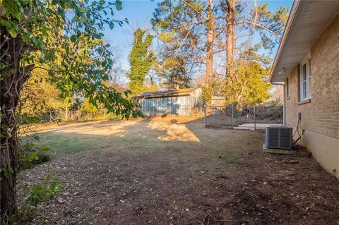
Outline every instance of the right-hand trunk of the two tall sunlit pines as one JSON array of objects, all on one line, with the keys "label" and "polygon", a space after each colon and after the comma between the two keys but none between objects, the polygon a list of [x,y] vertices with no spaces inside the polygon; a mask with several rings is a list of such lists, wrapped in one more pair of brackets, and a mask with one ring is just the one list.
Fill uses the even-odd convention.
[{"label": "right-hand trunk of the two tall sunlit pines", "polygon": [[227,0],[226,15],[226,73],[230,80],[234,79],[234,23],[235,23],[235,2]]}]

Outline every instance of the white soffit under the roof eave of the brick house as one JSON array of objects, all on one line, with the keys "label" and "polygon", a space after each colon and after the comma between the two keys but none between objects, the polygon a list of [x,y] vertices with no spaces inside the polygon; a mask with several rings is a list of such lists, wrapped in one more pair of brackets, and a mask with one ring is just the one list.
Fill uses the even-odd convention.
[{"label": "white soffit under the roof eave of the brick house", "polygon": [[309,54],[311,45],[339,12],[339,0],[293,3],[270,73],[270,82],[283,82]]}]

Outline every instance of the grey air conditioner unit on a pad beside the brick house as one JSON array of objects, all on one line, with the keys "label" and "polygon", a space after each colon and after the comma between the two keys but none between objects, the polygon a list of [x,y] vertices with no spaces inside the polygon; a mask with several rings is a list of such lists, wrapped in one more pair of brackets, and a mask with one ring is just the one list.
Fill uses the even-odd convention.
[{"label": "grey air conditioner unit on a pad beside the brick house", "polygon": [[268,148],[292,150],[292,128],[288,126],[266,126],[265,145]]}]

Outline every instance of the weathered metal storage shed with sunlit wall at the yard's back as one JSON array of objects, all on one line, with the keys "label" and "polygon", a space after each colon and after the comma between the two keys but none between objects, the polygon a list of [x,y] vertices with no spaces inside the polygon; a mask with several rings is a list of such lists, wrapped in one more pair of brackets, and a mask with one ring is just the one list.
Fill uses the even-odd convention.
[{"label": "weathered metal storage shed with sunlit wall at the yard's back", "polygon": [[145,116],[163,114],[191,115],[202,109],[201,88],[185,88],[136,95]]}]

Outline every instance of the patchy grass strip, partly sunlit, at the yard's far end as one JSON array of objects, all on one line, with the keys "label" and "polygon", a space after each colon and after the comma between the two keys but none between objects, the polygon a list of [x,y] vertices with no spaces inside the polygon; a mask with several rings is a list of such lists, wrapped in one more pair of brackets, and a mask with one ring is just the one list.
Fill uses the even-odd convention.
[{"label": "patchy grass strip, partly sunlit, at the yard's far end", "polygon": [[[232,133],[234,131],[205,129],[201,120],[189,122],[185,117],[157,117],[145,120],[70,123],[40,129],[39,144],[50,146],[57,153],[109,147],[133,152],[139,147],[155,150],[165,146],[185,147],[187,150],[203,147],[215,151],[229,142],[239,141],[237,135]],[[220,136],[223,136],[221,140]],[[250,137],[247,137],[248,140],[243,140],[244,136],[241,138],[249,143],[256,141]]]}]

